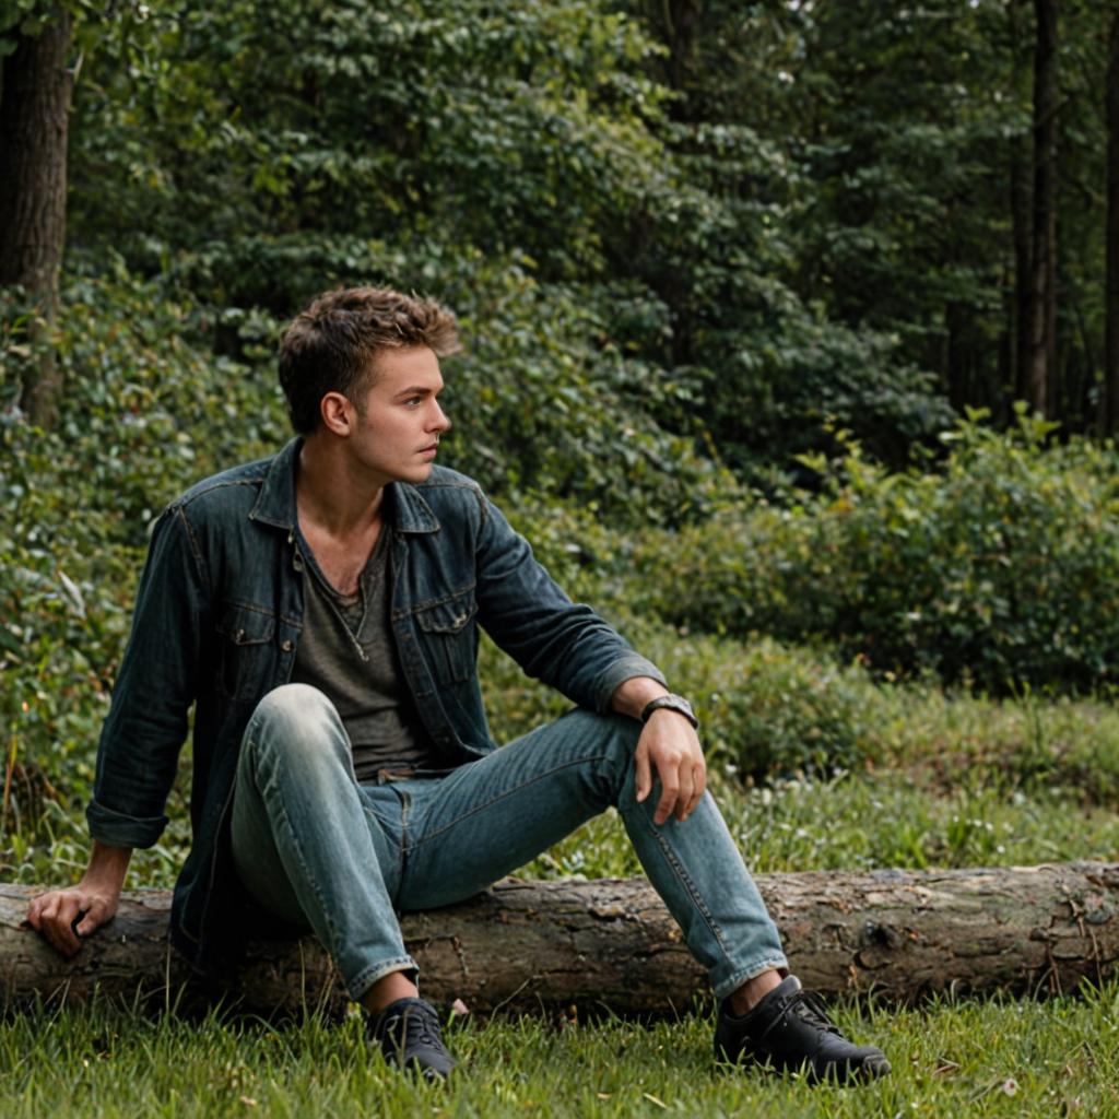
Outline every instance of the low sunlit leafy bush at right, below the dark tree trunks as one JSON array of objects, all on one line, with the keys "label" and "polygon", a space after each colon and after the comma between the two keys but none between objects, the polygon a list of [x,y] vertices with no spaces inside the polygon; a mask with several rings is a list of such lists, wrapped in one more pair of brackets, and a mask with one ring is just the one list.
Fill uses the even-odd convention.
[{"label": "low sunlit leafy bush at right, below the dark tree trunks", "polygon": [[857,445],[831,466],[806,459],[822,489],[800,504],[650,537],[634,556],[643,601],[698,630],[821,639],[886,673],[993,692],[1108,685],[1115,450],[1049,435],[1024,414],[1005,435],[961,423],[928,472],[890,474]]}]

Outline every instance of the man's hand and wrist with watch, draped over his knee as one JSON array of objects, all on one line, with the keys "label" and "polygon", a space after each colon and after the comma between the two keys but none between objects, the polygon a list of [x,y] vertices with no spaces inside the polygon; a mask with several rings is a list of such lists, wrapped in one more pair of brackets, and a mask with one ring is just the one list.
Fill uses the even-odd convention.
[{"label": "man's hand and wrist with watch, draped over his knee", "polygon": [[[640,718],[646,705],[664,695],[668,689],[659,680],[634,676],[614,689],[611,706],[622,715]],[[670,708],[658,708],[649,716],[638,739],[633,765],[639,801],[652,791],[653,770],[660,780],[655,824],[664,824],[670,816],[680,822],[686,820],[707,788],[707,763],[699,736],[687,717]]]}]

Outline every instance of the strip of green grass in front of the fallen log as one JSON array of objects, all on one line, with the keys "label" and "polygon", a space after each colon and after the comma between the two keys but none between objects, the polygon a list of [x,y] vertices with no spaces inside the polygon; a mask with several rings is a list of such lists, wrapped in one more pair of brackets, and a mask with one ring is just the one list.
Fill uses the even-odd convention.
[{"label": "strip of green grass in front of the fallen log", "polygon": [[184,1116],[1119,1116],[1119,988],[1081,998],[935,1003],[836,1016],[894,1070],[857,1088],[716,1068],[703,1017],[651,1025],[468,1021],[460,1073],[417,1084],[370,1051],[359,1019],[147,1021],[96,1007],[0,1023],[0,1113]]}]

